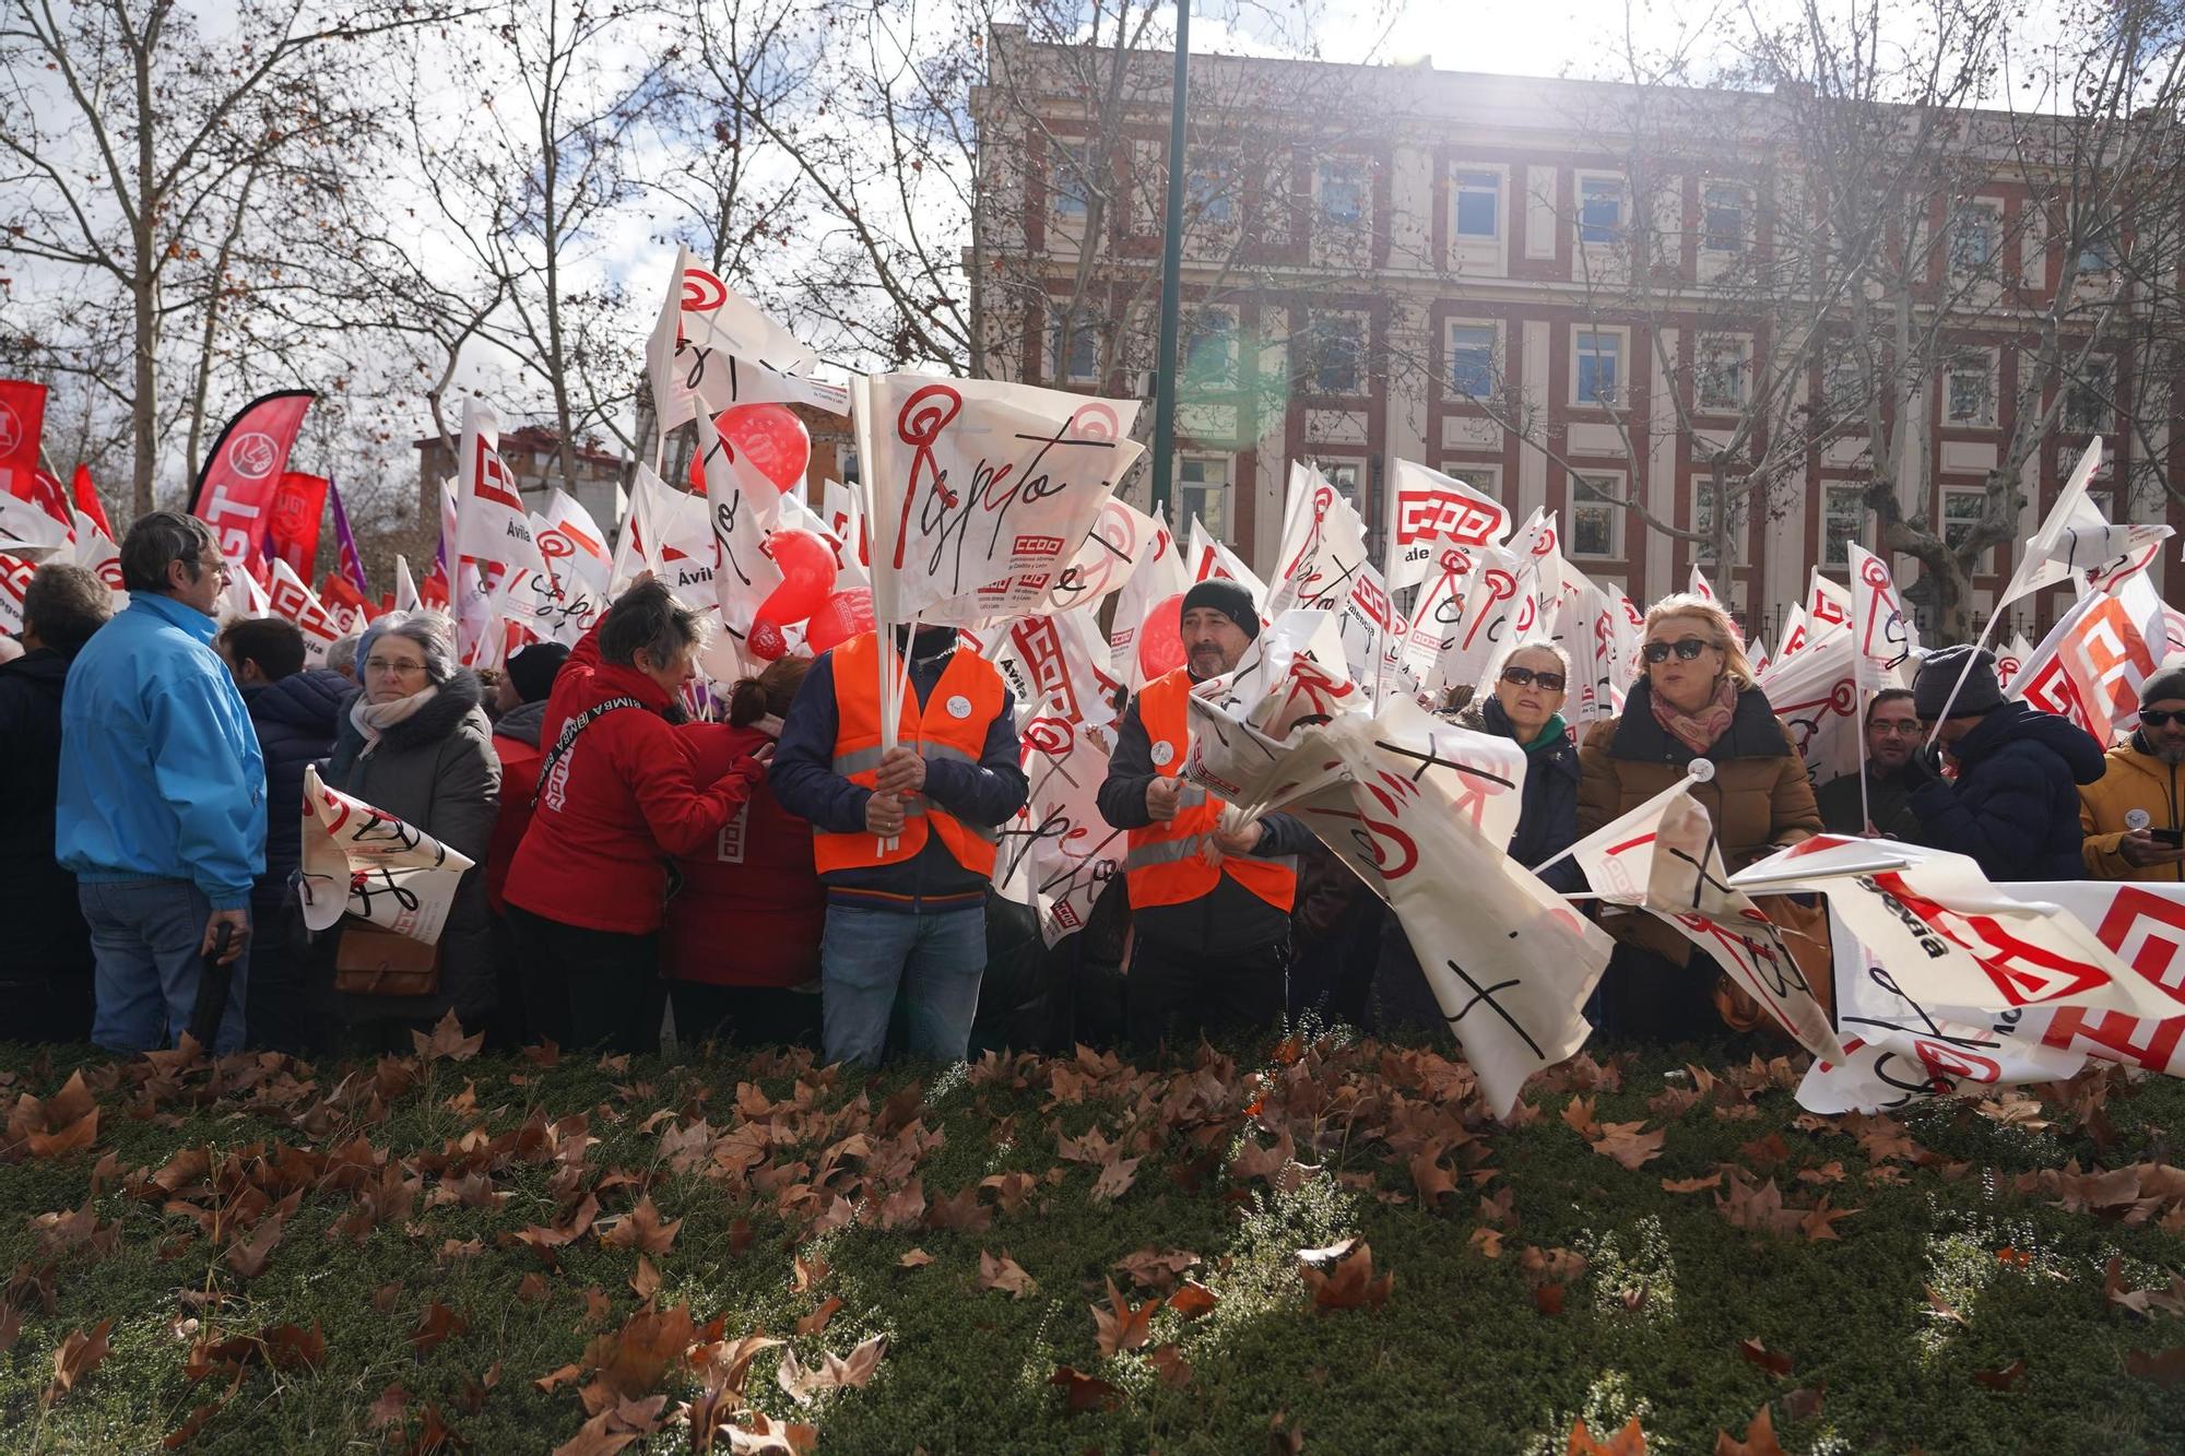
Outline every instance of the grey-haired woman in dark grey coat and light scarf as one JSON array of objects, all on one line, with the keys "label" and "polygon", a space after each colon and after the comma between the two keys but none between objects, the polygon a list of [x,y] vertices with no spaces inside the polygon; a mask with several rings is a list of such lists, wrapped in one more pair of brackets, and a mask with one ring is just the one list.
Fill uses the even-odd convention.
[{"label": "grey-haired woman in dark grey coat and light scarf", "polygon": [[[334,997],[343,1041],[354,1049],[409,1052],[409,1032],[430,1030],[450,1010],[472,1032],[494,1012],[485,848],[500,807],[500,759],[479,676],[457,667],[454,623],[444,614],[395,612],[371,623],[356,645],[356,682],[321,778],[472,861],[439,931],[433,971],[374,975],[363,955],[369,931],[356,944],[336,942],[336,986],[347,988]],[[356,936],[350,923],[336,931],[343,940]],[[417,993],[424,984],[433,990]]]}]

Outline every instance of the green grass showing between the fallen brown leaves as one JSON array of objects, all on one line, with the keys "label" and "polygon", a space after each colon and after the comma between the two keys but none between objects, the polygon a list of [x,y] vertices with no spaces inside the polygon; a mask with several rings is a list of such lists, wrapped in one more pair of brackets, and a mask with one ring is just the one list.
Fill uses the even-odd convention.
[{"label": "green grass showing between the fallen brown leaves", "polygon": [[[996,1209],[983,1233],[881,1231],[872,1226],[876,1200],[861,1198],[863,1161],[839,1159],[830,1187],[859,1194],[848,1205],[857,1218],[813,1233],[784,1222],[769,1191],[677,1174],[662,1159],[662,1132],[697,1117],[714,1143],[743,1126],[745,1082],[769,1100],[789,1097],[798,1078],[776,1058],[640,1060],[614,1071],[590,1056],[553,1069],[435,1060],[376,1102],[369,1065],[251,1069],[253,1087],[236,1089],[247,1065],[232,1062],[221,1071],[225,1091],[199,1065],[146,1089],[144,1062],[0,1047],[0,1076],[9,1076],[0,1100],[50,1097],[76,1065],[103,1089],[96,1143],[0,1165],[0,1268],[50,1264],[55,1301],[46,1312],[28,1281],[15,1285],[28,1310],[0,1351],[4,1449],[157,1449],[194,1408],[214,1404],[186,1449],[404,1449],[424,1432],[428,1404],[476,1452],[548,1449],[583,1425],[583,1379],[551,1393],[533,1379],[583,1364],[594,1336],[638,1312],[629,1283],[638,1253],[594,1231],[557,1250],[555,1266],[509,1235],[555,1224],[579,1189],[603,1183],[603,1222],[625,1213],[640,1187],[664,1218],[682,1220],[673,1246],[651,1259],[658,1307],[688,1305],[699,1323],[721,1316],[730,1340],[758,1329],[787,1336],[806,1364],[887,1334],[865,1388],[824,1393],[808,1408],[776,1384],[780,1351],[756,1358],[749,1399],[773,1417],[815,1423],[822,1452],[1228,1454],[1269,1449],[1272,1430],[1302,1430],[1309,1452],[1560,1456],[1573,1419],[1606,1439],[1634,1414],[1652,1452],[1711,1452],[1717,1430],[1741,1436],[1770,1401],[1790,1452],[2185,1449],[2185,1386],[2126,1375],[2128,1351],[2185,1345],[2185,1318],[2133,1314],[2104,1296],[2111,1257],[2122,1257],[2130,1288],[2168,1285],[2185,1268],[2178,1200],[2157,1198],[2119,1220],[2015,1189],[2019,1174],[2067,1159],[2084,1170],[2168,1163],[2163,1148],[2185,1130],[2185,1087],[2165,1078],[2130,1087],[2111,1078],[2115,1095],[2093,1128],[2058,1100],[2039,1130],[1969,1104],[1910,1113],[1901,1122],[1925,1165],[1894,1159],[1879,1178],[1901,1181],[1888,1183],[1868,1178],[1879,1165],[1838,1119],[1800,1119],[1774,1084],[1748,1106],[1726,1095],[1728,1106],[1650,1111],[1663,1076],[1678,1067],[1667,1056],[1615,1058],[1621,1091],[1586,1093],[1604,1124],[1667,1128],[1661,1156],[1639,1170],[1593,1152],[1567,1126],[1569,1091],[1532,1091],[1538,1117],[1497,1128],[1481,1122],[1477,1100],[1457,1095],[1462,1082],[1420,1076],[1422,1067],[1440,1071],[1436,1062],[1385,1060],[1379,1047],[1322,1043],[1296,1062],[1256,1047],[1235,1067],[1123,1069],[1088,1084],[1082,1102],[1071,1100],[1079,1093],[1071,1062],[1027,1060],[1003,1076],[894,1067],[835,1078],[808,1111],[778,1119],[773,1163],[817,1165],[828,1143],[859,1128],[872,1128],[878,1143],[916,1113],[946,1139],[913,1170],[929,1202],[1012,1170],[1034,1174],[1038,1187],[1018,1211]],[[1055,1067],[1066,1071],[1053,1076]],[[883,1111],[911,1084],[911,1097]],[[1289,1130],[1298,1159],[1318,1170],[1283,1178],[1283,1191],[1267,1178],[1232,1178],[1226,1159],[1252,1106],[1261,1146]],[[640,1126],[662,1108],[675,1119]],[[430,1205],[441,1183],[433,1159],[474,1128],[505,1135],[533,1113],[590,1117],[599,1141],[579,1174],[562,1172],[555,1189],[557,1163],[518,1159],[489,1174],[489,1191],[505,1194],[498,1207]],[[1401,1141],[1412,1119],[1438,1126],[1440,1137],[1471,1124],[1477,1139],[1442,1159],[1457,1194],[1438,1209],[1420,1207],[1407,1154],[1385,1141],[1392,1130]],[[1079,1137],[1095,1126],[1143,1156],[1136,1183],[1114,1202],[1090,1200],[1095,1167],[1058,1159],[1058,1132]],[[328,1150],[358,1132],[393,1161],[426,1159],[409,1218],[382,1222],[361,1244],[330,1237],[352,1196],[306,1187],[256,1279],[223,1259],[229,1237],[208,1240],[188,1213],[125,1187],[184,1148],[208,1148],[218,1163],[264,1143],[271,1159],[275,1143]],[[800,1132],[808,1137],[798,1141]],[[1796,1202],[1827,1191],[1835,1207],[1859,1209],[1835,1222],[1833,1242],[1748,1233],[1717,1211],[1715,1194],[1663,1189],[1665,1178],[1741,1163],[1741,1146],[1770,1132],[1787,1156],[1761,1178],[1772,1174]],[[1217,1161],[1204,1170],[1208,1150]],[[42,1250],[35,1216],[83,1207],[105,1154],[114,1172],[92,1207],[103,1226],[116,1226],[109,1248]],[[1204,1176],[1186,1187],[1191,1178],[1176,1174],[1189,1174],[1195,1159]],[[1824,1189],[1796,1176],[1829,1163],[1842,1165],[1842,1181]],[[234,1172],[249,1167],[245,1156]],[[229,1178],[227,1187],[240,1185]],[[1514,1211],[1499,1257],[1473,1240],[1484,1196],[1510,1198]],[[994,1200],[992,1191],[981,1198]],[[732,1253],[739,1226],[747,1242]],[[1368,1242],[1374,1270],[1392,1272],[1394,1288],[1379,1310],[1315,1312],[1296,1253],[1346,1235]],[[448,1242],[470,1240],[481,1244],[476,1255],[439,1257]],[[913,1246],[933,1261],[905,1268]],[[1108,1277],[1130,1288],[1114,1266],[1141,1248],[1200,1255],[1195,1277],[1219,1303],[1195,1320],[1160,1310],[1145,1349],[1106,1358],[1088,1303],[1103,1301]],[[1558,1314],[1536,1305],[1525,1248],[1588,1259]],[[2001,1248],[2019,1255],[2001,1259]],[[1038,1290],[1027,1299],[981,1290],[981,1250],[1007,1250]],[[798,1253],[832,1266],[808,1292],[791,1288]],[[520,1299],[535,1272],[544,1301]],[[612,1305],[605,1318],[588,1316],[588,1290]],[[1929,1290],[1962,1320],[1938,1314]],[[192,1307],[184,1294],[214,1299]],[[826,1296],[843,1301],[826,1329],[793,1336]],[[411,1331],[433,1301],[468,1318],[468,1329],[420,1355]],[[63,1338],[105,1318],[114,1320],[109,1358],[42,1406]],[[186,1318],[199,1325],[177,1329]],[[240,1377],[190,1379],[194,1342],[284,1323],[323,1331],[315,1369],[253,1362]],[[1787,1355],[1792,1373],[1746,1360],[1739,1342],[1748,1338]],[[1158,1379],[1149,1353],[1162,1345],[1191,1366],[1182,1388]],[[2010,1388],[1975,1382],[2015,1360],[2025,1371]],[[1110,1382],[1112,1408],[1068,1410],[1049,1384],[1064,1364]],[[376,1430],[374,1401],[395,1384],[409,1393],[404,1414]],[[688,1425],[673,1414],[695,1388],[686,1369],[671,1366],[658,1386],[669,1397],[666,1423],[629,1449],[688,1449]],[[1818,1414],[1783,1401],[1820,1388]],[[728,1449],[725,1434],[717,1449]]]}]

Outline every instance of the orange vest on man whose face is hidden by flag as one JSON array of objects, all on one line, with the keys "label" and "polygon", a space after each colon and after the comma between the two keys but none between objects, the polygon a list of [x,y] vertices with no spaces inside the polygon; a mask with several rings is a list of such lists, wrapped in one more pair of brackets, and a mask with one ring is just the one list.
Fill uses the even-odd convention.
[{"label": "orange vest on man whose face is hidden by flag", "polygon": [[[835,647],[835,772],[867,789],[881,776],[883,752],[876,651],[878,636],[872,632]],[[896,741],[916,748],[929,763],[933,759],[979,763],[985,752],[985,730],[1001,715],[1005,691],[992,662],[977,651],[957,651],[926,695],[924,708],[918,706],[918,691],[905,678]],[[924,794],[902,800],[902,833],[896,835],[896,848],[881,848],[881,839],[863,829],[850,835],[815,829],[813,861],[822,874],[902,864],[926,846],[929,833],[940,835],[948,855],[972,874],[994,872],[1001,835],[983,824],[966,824]]]}]

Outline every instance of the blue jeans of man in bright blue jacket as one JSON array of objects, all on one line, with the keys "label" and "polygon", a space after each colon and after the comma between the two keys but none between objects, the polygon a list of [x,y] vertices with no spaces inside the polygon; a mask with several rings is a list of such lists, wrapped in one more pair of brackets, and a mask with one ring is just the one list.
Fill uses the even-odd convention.
[{"label": "blue jeans of man in bright blue jacket", "polygon": [[[98,1014],[92,1041],[109,1052],[153,1052],[173,1047],[197,1010],[197,982],[205,960],[205,920],[212,901],[186,879],[79,881],[76,901],[92,927],[98,962]],[[234,962],[227,1014],[214,1052],[243,1045],[243,990],[249,982],[251,949]]]}]

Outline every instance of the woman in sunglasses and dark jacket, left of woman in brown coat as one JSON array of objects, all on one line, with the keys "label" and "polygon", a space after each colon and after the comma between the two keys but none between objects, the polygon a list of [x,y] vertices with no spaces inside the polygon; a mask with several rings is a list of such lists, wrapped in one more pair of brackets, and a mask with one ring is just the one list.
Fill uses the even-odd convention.
[{"label": "woman in sunglasses and dark jacket, left of woman in brown coat", "polygon": [[[1562,721],[1571,682],[1571,660],[1562,647],[1527,643],[1501,654],[1455,715],[1460,728],[1512,739],[1525,750],[1525,789],[1510,835],[1510,857],[1536,866],[1578,842],[1578,743]],[[1540,877],[1554,890],[1584,890],[1578,864],[1564,859]],[[1418,968],[1403,925],[1387,916],[1381,925],[1381,960],[1368,997],[1372,1030],[1427,1032],[1446,1028],[1440,1003]]]}]

